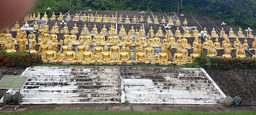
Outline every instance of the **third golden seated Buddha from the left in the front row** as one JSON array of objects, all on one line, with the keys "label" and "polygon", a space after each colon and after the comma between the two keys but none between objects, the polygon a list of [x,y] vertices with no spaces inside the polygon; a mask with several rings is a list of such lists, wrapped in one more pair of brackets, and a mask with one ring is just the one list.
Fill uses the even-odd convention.
[{"label": "third golden seated Buddha from the left in the front row", "polygon": [[84,65],[95,63],[95,61],[93,60],[93,53],[90,52],[89,50],[90,50],[90,46],[86,45],[85,51],[82,53],[80,63]]}]

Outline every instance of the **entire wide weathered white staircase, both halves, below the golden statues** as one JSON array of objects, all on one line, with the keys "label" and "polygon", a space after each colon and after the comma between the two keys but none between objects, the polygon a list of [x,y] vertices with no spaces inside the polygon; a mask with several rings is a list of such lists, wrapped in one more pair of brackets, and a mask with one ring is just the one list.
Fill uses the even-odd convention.
[{"label": "entire wide weathered white staircase, both halves, below the golden statues", "polygon": [[22,104],[216,104],[225,97],[200,68],[33,66],[22,75],[29,76]]}]

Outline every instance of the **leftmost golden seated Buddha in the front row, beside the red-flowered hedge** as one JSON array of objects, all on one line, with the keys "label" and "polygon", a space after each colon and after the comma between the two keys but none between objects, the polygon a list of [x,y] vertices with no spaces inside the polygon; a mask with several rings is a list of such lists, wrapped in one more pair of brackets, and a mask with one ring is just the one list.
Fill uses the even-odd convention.
[{"label": "leftmost golden seated Buddha in the front row, beside the red-flowered hedge", "polygon": [[52,45],[48,45],[48,50],[43,55],[45,55],[42,56],[43,63],[58,63],[58,60],[56,60],[56,51],[52,50]]}]

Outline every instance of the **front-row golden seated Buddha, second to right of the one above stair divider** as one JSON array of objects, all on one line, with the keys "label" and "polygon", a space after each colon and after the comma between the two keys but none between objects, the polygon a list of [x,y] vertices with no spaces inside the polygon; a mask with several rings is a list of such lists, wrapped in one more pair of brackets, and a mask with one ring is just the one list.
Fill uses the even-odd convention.
[{"label": "front-row golden seated Buddha, second to right of the one above stair divider", "polygon": [[156,63],[159,63],[159,65],[170,65],[172,64],[171,61],[168,61],[168,54],[164,52],[165,48],[161,47],[161,52],[158,53],[158,60]]}]

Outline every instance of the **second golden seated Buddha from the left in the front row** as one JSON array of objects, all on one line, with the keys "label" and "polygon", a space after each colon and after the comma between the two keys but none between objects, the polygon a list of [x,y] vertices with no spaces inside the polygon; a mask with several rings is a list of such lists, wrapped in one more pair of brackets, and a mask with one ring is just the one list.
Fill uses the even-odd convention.
[{"label": "second golden seated Buddha from the left in the front row", "polygon": [[76,52],[72,51],[72,45],[68,45],[67,52],[64,52],[64,57],[61,59],[62,63],[77,63]]}]

